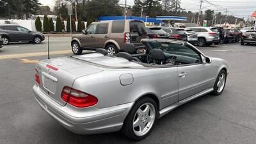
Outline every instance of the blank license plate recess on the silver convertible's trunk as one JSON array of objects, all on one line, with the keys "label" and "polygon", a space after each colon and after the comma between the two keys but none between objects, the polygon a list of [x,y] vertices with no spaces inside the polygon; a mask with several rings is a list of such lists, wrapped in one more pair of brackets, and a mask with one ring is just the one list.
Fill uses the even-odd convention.
[{"label": "blank license plate recess on the silver convertible's trunk", "polygon": [[55,94],[58,79],[56,79],[56,77],[53,77],[49,74],[46,74],[45,72],[42,72],[42,79],[43,79],[43,86],[45,90],[47,90],[52,94]]}]

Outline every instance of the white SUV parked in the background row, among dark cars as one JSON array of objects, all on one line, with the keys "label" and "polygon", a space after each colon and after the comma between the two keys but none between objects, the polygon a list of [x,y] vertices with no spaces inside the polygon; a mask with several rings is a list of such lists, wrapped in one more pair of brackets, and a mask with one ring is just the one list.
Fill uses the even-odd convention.
[{"label": "white SUV parked in the background row, among dark cars", "polygon": [[187,30],[193,30],[198,36],[198,46],[209,46],[213,43],[220,42],[220,33],[216,28],[212,27],[193,27],[186,28]]}]

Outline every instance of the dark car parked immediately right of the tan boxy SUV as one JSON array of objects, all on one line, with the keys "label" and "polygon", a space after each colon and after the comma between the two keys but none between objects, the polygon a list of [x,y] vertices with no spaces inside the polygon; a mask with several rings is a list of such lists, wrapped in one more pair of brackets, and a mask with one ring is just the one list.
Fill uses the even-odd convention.
[{"label": "dark car parked immediately right of the tan boxy SUV", "polygon": [[161,27],[147,27],[148,38],[169,38],[169,36]]}]

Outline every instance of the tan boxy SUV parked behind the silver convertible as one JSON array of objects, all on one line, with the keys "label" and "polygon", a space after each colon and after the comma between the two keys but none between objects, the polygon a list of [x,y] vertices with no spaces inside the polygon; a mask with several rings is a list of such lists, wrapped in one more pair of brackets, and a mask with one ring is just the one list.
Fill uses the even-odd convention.
[{"label": "tan boxy SUV parked behind the silver convertible", "polygon": [[102,20],[92,22],[83,35],[73,35],[71,46],[74,54],[81,54],[84,49],[104,48],[109,55],[114,55],[125,44],[133,44],[136,49],[145,47],[140,40],[146,37],[145,24],[141,20]]}]

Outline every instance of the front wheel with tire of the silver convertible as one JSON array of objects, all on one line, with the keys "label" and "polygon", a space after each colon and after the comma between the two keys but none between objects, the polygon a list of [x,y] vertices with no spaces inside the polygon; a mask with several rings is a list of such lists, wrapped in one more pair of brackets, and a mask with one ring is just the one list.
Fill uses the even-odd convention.
[{"label": "front wheel with tire of the silver convertible", "polygon": [[223,92],[226,85],[226,80],[227,72],[225,70],[221,70],[214,84],[214,90],[212,92],[214,95],[220,95]]}]

